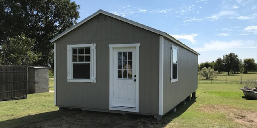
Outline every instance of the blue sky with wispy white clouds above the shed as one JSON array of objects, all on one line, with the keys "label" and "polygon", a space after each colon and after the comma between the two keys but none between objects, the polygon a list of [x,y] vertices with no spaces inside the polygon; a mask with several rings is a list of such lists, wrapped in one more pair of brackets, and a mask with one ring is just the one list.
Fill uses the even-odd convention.
[{"label": "blue sky with wispy white clouds above the shed", "polygon": [[231,52],[257,62],[257,0],[84,1],[81,21],[99,9],[167,32],[201,55],[198,63]]}]

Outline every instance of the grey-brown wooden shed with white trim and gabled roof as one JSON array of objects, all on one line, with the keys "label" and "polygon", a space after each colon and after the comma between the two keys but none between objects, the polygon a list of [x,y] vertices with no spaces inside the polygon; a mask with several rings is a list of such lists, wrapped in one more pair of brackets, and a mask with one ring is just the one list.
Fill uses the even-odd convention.
[{"label": "grey-brown wooden shed with white trim and gabled roof", "polygon": [[58,107],[160,118],[197,89],[199,53],[103,10],[50,42]]}]

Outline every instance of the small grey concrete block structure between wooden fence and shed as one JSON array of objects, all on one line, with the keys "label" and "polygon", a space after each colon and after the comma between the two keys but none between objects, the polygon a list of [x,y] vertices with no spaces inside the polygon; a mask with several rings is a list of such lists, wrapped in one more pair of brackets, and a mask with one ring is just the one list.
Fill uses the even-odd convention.
[{"label": "small grey concrete block structure between wooden fence and shed", "polygon": [[48,92],[48,69],[50,67],[29,67],[28,72],[28,93]]}]

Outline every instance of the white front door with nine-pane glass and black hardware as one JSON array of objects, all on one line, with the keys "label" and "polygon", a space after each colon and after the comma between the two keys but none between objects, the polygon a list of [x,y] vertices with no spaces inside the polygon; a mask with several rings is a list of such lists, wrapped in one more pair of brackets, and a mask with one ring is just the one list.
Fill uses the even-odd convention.
[{"label": "white front door with nine-pane glass and black hardware", "polygon": [[113,107],[136,109],[136,47],[113,49]]}]

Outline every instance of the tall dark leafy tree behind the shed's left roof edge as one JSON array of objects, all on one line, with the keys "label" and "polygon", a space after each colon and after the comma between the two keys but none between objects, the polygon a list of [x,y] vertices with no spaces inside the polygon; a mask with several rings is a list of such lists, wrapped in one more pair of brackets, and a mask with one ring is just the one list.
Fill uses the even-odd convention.
[{"label": "tall dark leafy tree behind the shed's left roof edge", "polygon": [[[53,65],[52,38],[76,24],[79,5],[70,0],[0,1],[0,40],[24,33],[41,54],[36,65]],[[0,42],[1,43],[1,42]]]}]

